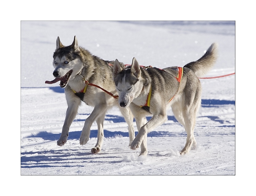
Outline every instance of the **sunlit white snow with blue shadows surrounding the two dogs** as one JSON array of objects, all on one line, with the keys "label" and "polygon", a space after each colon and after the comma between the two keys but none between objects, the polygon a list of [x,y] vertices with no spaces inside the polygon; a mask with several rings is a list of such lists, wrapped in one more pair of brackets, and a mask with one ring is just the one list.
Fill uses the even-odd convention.
[{"label": "sunlit white snow with blue shadows surrounding the two dogs", "polygon": [[[186,132],[169,109],[168,121],[148,134],[147,158],[128,147],[128,130],[117,108],[108,111],[104,142],[91,154],[97,125],[89,142],[79,137],[92,107],[83,104],[70,128],[68,141],[57,146],[67,103],[64,90],[52,80],[52,54],[56,38],[70,45],[74,35],[80,46],[105,60],[159,68],[184,66],[199,59],[213,43],[219,58],[206,76],[235,72],[234,22],[21,22],[21,175],[235,175],[235,75],[201,79],[202,107],[195,137],[196,149],[180,156]],[[137,128],[134,122],[137,133]],[[136,134],[135,133],[135,134]]]}]

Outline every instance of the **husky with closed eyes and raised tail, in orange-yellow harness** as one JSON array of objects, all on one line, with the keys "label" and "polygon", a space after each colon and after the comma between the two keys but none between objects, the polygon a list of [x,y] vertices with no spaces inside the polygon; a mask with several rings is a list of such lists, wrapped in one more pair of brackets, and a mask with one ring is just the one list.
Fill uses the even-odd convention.
[{"label": "husky with closed eyes and raised tail, in orange-yellow harness", "polygon": [[[130,148],[141,147],[147,155],[147,133],[167,120],[166,108],[171,106],[175,118],[184,126],[187,140],[180,154],[196,145],[194,127],[201,105],[202,87],[198,77],[206,74],[217,60],[217,44],[213,43],[197,61],[182,67],[143,68],[133,58],[132,65],[122,68],[116,59],[113,79],[119,105],[130,107],[136,120],[138,134]],[[153,115],[147,122],[146,115]]]}]

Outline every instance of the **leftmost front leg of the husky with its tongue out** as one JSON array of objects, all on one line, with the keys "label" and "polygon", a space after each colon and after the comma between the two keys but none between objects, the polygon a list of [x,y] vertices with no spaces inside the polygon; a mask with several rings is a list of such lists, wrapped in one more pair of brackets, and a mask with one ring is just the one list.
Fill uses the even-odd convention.
[{"label": "leftmost front leg of the husky with its tongue out", "polygon": [[[79,98],[70,98],[68,94],[66,95],[66,97],[67,97],[68,109],[66,112],[66,118],[64,121],[64,125],[62,127],[60,138],[57,141],[58,146],[63,146],[67,142],[69,127],[71,126],[73,120],[75,119],[78,106],[81,103],[81,100]],[[72,101],[68,101],[68,100],[72,100]]]}]

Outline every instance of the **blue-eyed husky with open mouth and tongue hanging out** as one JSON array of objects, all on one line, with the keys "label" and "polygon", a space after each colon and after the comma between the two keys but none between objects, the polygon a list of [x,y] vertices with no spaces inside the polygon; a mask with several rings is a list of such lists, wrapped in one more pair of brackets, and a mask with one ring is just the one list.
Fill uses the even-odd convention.
[{"label": "blue-eyed husky with open mouth and tongue hanging out", "polygon": [[[57,38],[56,50],[53,54],[53,66],[55,68],[53,76],[55,79],[45,81],[47,84],[60,81],[60,87],[65,88],[68,103],[66,118],[57,145],[63,146],[67,142],[69,127],[75,119],[78,107],[82,101],[89,106],[93,106],[94,109],[85,120],[85,125],[79,139],[80,145],[84,145],[89,141],[90,128],[92,123],[96,121],[98,126],[97,143],[91,152],[97,154],[101,150],[104,137],[103,121],[107,110],[112,106],[120,108],[128,124],[130,144],[134,140],[133,115],[130,109],[119,106],[117,99],[99,88],[88,86],[83,80],[85,78],[89,83],[96,84],[112,94],[117,93],[112,79],[113,64],[114,61],[102,60],[92,55],[83,47],[78,46],[76,36],[70,46],[62,45],[60,38]],[[121,66],[124,67],[123,63],[121,63]]]}]

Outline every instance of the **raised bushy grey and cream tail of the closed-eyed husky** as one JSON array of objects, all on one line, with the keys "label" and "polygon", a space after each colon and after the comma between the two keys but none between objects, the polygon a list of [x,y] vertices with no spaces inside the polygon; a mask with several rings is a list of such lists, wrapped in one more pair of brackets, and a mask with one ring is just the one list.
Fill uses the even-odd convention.
[{"label": "raised bushy grey and cream tail of the closed-eyed husky", "polygon": [[199,78],[203,77],[205,74],[207,74],[207,72],[209,72],[213,68],[217,60],[217,57],[218,57],[217,48],[218,48],[218,44],[213,43],[208,48],[204,56],[202,56],[197,61],[188,63],[184,67],[188,67],[189,69],[193,70],[197,77]]}]

